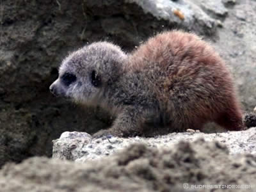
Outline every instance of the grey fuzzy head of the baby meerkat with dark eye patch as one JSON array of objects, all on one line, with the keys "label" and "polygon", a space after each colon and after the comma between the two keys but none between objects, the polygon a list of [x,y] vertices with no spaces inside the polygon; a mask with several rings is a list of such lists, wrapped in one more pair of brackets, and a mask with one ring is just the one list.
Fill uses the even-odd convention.
[{"label": "grey fuzzy head of the baby meerkat with dark eye patch", "polygon": [[120,47],[108,42],[86,45],[63,60],[50,90],[56,96],[91,104],[120,76],[126,58]]}]

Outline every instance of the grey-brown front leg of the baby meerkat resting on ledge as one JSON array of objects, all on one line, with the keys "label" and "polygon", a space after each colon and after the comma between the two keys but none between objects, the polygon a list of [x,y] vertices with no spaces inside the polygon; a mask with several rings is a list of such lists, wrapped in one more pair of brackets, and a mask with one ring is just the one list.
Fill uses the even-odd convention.
[{"label": "grey-brown front leg of the baby meerkat resting on ledge", "polygon": [[112,127],[109,129],[100,130],[93,134],[93,138],[99,138],[101,136],[138,136],[143,131],[143,124],[152,118],[150,115],[150,110],[130,106],[125,108],[115,119]]}]

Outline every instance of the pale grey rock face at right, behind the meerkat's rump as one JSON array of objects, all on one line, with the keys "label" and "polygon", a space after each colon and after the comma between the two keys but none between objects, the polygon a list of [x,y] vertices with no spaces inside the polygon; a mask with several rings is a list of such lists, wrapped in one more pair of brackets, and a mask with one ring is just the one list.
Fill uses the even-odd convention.
[{"label": "pale grey rock face at right, behind the meerkat's rump", "polygon": [[255,8],[256,1],[237,1],[228,8],[223,28],[218,29],[219,38],[212,43],[234,74],[244,111],[252,111],[256,104]]}]

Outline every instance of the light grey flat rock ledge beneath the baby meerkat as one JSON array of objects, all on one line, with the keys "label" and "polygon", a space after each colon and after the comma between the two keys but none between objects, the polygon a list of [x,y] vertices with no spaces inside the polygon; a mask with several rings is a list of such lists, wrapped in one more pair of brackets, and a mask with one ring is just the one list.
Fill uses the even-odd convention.
[{"label": "light grey flat rock ledge beneath the baby meerkat", "polygon": [[53,158],[70,159],[85,162],[88,159],[115,154],[131,143],[145,143],[152,148],[170,148],[179,141],[195,141],[204,138],[205,141],[220,141],[227,145],[230,154],[256,154],[256,127],[246,131],[228,131],[222,133],[205,134],[203,132],[179,132],[155,138],[99,138],[92,139],[86,132],[63,132],[60,139],[54,140]]}]

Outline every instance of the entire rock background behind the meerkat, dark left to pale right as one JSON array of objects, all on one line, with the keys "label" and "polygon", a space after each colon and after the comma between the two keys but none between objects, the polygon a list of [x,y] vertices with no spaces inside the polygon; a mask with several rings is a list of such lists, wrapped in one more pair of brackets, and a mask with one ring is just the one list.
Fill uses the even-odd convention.
[{"label": "entire rock background behind the meerkat, dark left to pale right", "polygon": [[[256,1],[214,1],[212,9],[207,2],[1,1],[0,166],[51,156],[51,140],[61,132],[93,133],[111,123],[100,109],[81,109],[49,93],[68,52],[97,40],[131,50],[164,29],[206,35],[232,65],[244,109],[251,111],[256,103]],[[217,30],[216,24],[223,28]]]}]

